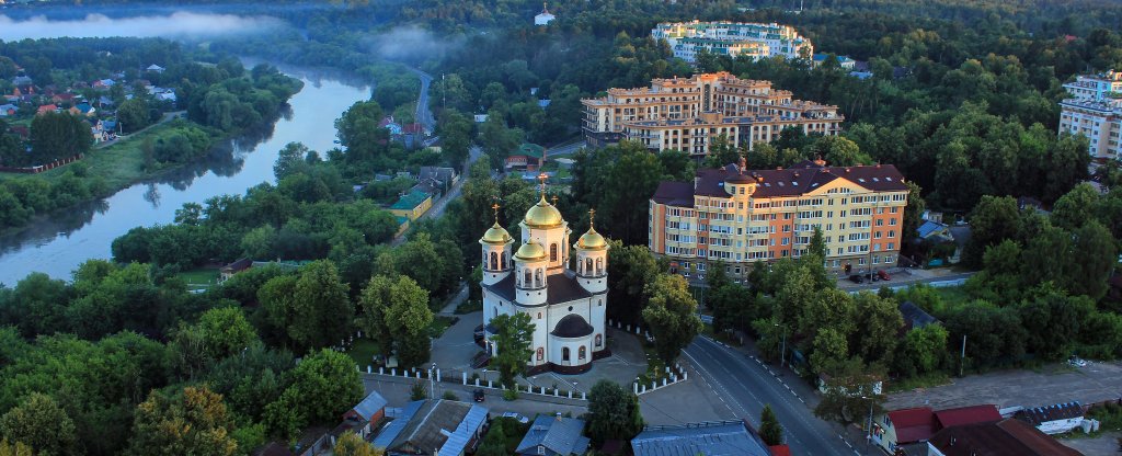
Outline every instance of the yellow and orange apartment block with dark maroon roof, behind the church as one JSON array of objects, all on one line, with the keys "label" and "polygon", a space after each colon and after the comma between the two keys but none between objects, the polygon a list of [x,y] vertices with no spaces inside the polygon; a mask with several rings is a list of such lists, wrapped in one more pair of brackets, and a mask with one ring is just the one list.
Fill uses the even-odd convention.
[{"label": "yellow and orange apartment block with dark maroon roof, behind the church", "polygon": [[735,276],[758,261],[806,254],[815,229],[826,267],[864,273],[892,267],[903,241],[908,185],[892,165],[699,170],[693,182],[662,182],[651,198],[647,245],[683,275],[719,262]]}]

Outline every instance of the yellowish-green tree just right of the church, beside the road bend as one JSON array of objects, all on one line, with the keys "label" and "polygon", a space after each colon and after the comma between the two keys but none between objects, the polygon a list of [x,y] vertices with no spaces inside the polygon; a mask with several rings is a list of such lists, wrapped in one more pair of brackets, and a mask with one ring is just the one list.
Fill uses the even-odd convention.
[{"label": "yellowish-green tree just right of the church, beside the road bend", "polygon": [[701,332],[698,303],[680,275],[659,275],[644,293],[647,307],[643,309],[643,321],[651,328],[659,357],[672,364],[682,348]]}]

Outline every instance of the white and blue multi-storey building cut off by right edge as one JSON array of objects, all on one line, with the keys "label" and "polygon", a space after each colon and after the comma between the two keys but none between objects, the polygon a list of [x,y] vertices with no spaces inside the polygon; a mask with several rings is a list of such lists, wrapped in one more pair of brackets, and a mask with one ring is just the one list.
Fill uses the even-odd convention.
[{"label": "white and blue multi-storey building cut off by right edge", "polygon": [[1086,136],[1094,158],[1122,161],[1122,73],[1077,76],[1064,89],[1074,98],[1059,103],[1059,133]]}]

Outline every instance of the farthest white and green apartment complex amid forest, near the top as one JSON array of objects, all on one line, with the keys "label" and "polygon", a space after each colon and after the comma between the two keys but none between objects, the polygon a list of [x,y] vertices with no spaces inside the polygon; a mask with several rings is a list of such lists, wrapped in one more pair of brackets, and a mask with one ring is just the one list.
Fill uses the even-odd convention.
[{"label": "farthest white and green apartment complex amid forest, near the top", "polygon": [[654,39],[665,39],[674,56],[693,63],[702,49],[715,55],[752,60],[781,55],[809,58],[815,46],[791,26],[751,22],[662,22],[651,30]]}]

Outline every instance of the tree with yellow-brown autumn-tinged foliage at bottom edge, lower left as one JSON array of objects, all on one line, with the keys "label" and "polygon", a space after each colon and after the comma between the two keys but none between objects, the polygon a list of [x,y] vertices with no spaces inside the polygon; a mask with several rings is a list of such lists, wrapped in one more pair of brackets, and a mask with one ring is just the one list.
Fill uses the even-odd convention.
[{"label": "tree with yellow-brown autumn-tinged foliage at bottom edge, lower left", "polygon": [[187,386],[168,396],[153,391],[137,405],[129,452],[134,455],[226,456],[238,450],[222,396]]}]

